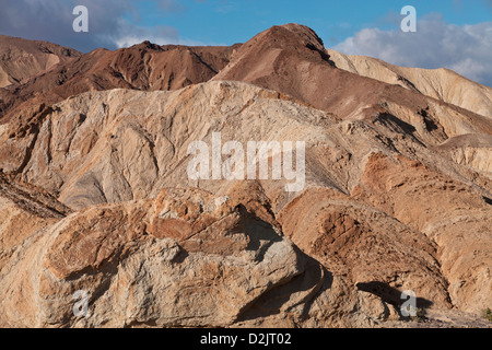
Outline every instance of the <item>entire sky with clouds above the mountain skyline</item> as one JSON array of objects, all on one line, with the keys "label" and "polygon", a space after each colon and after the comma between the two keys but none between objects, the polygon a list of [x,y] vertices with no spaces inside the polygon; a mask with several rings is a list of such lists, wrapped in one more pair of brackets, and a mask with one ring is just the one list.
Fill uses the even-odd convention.
[{"label": "entire sky with clouds above the mountain skyline", "polygon": [[[89,33],[74,33],[72,10],[89,9]],[[402,33],[413,5],[418,33]],[[232,45],[272,25],[301,23],[327,48],[394,65],[445,67],[492,86],[492,0],[0,0],[0,34],[90,51],[149,39],[155,44]]]}]

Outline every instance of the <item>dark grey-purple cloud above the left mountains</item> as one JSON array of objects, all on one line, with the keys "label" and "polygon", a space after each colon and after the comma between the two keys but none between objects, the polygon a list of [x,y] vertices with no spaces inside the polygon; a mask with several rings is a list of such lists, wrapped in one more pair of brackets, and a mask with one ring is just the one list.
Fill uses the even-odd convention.
[{"label": "dark grey-purple cloud above the left mountains", "polygon": [[[163,13],[183,11],[177,0],[153,0]],[[72,10],[82,4],[89,9],[89,33],[74,33]],[[144,27],[138,23],[141,13],[132,0],[0,0],[0,33],[38,39],[89,51],[97,47],[115,49],[144,40],[155,44],[199,43],[183,39],[171,26]]]}]

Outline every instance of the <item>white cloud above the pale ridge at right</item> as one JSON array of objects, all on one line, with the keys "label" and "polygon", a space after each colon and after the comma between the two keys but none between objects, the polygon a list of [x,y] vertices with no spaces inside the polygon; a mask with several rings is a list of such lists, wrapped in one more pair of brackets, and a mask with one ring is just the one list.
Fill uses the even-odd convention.
[{"label": "white cloud above the pale ridge at right", "polygon": [[365,28],[333,49],[405,67],[448,68],[492,86],[492,22],[458,26],[434,14],[418,21],[417,33]]}]

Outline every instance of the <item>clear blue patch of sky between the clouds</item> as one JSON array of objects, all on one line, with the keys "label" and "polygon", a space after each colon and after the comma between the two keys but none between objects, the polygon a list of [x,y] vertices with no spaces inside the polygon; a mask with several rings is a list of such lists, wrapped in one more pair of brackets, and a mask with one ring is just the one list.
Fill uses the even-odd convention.
[{"label": "clear blue patch of sky between the clouds", "polygon": [[[489,1],[490,2],[490,1]],[[274,24],[301,23],[315,30],[327,47],[336,45],[365,27],[399,27],[400,10],[411,4],[418,18],[441,13],[447,23],[457,25],[492,21],[484,0],[184,0],[137,1],[144,26],[169,25],[184,40],[232,45],[248,40]]]}]

